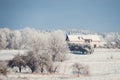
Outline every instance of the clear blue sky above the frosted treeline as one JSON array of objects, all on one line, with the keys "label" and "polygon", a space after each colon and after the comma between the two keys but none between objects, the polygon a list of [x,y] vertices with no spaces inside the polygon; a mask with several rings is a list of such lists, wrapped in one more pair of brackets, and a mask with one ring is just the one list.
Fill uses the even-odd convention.
[{"label": "clear blue sky above the frosted treeline", "polygon": [[0,0],[0,28],[120,32],[120,0]]}]

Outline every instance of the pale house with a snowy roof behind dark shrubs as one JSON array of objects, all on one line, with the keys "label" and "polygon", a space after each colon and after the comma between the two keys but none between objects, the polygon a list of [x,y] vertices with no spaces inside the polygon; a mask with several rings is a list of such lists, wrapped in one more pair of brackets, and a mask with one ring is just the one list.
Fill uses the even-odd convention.
[{"label": "pale house with a snowy roof behind dark shrubs", "polygon": [[94,48],[100,45],[100,38],[98,35],[67,35],[66,41],[69,44],[90,44]]}]

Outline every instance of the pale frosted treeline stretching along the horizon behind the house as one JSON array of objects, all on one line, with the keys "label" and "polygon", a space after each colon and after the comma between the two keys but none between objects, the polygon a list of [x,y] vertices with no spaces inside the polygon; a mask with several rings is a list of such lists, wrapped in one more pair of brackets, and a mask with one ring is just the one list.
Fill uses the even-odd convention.
[{"label": "pale frosted treeline stretching along the horizon behind the house", "polygon": [[1,28],[0,49],[33,49],[35,44],[44,44],[47,47],[53,34],[63,41],[65,41],[66,34],[97,34],[100,36],[101,42],[103,42],[102,47],[120,48],[120,33],[118,32],[98,33],[76,29],[41,31],[33,28],[10,30],[8,28]]}]

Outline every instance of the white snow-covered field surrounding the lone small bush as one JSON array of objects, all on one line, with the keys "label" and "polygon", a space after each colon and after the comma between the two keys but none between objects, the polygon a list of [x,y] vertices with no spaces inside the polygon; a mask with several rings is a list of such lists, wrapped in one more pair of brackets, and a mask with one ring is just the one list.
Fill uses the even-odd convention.
[{"label": "white snow-covered field surrounding the lone small bush", "polygon": [[[0,60],[9,60],[16,54],[24,54],[19,50],[1,50]],[[10,73],[0,76],[0,80],[120,80],[120,50],[118,49],[95,49],[91,55],[68,53],[68,60],[60,62],[59,73]],[[74,63],[81,63],[89,66],[90,75],[76,77],[72,72]]]}]

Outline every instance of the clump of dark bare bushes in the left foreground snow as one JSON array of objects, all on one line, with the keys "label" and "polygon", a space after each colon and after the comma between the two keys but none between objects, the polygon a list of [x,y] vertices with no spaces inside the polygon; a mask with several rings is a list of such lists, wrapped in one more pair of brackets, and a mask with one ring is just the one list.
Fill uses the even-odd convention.
[{"label": "clump of dark bare bushes in the left foreground snow", "polygon": [[[58,57],[58,61],[63,61],[64,59],[64,56]],[[11,68],[18,67],[19,72],[21,72],[22,67],[26,68],[26,66],[28,66],[32,73],[44,73],[45,71],[47,71],[47,73],[55,73],[58,69],[58,65],[54,63],[52,55],[49,53],[35,53],[34,51],[29,51],[27,55],[16,55],[12,60],[8,61],[8,66]]]}]

